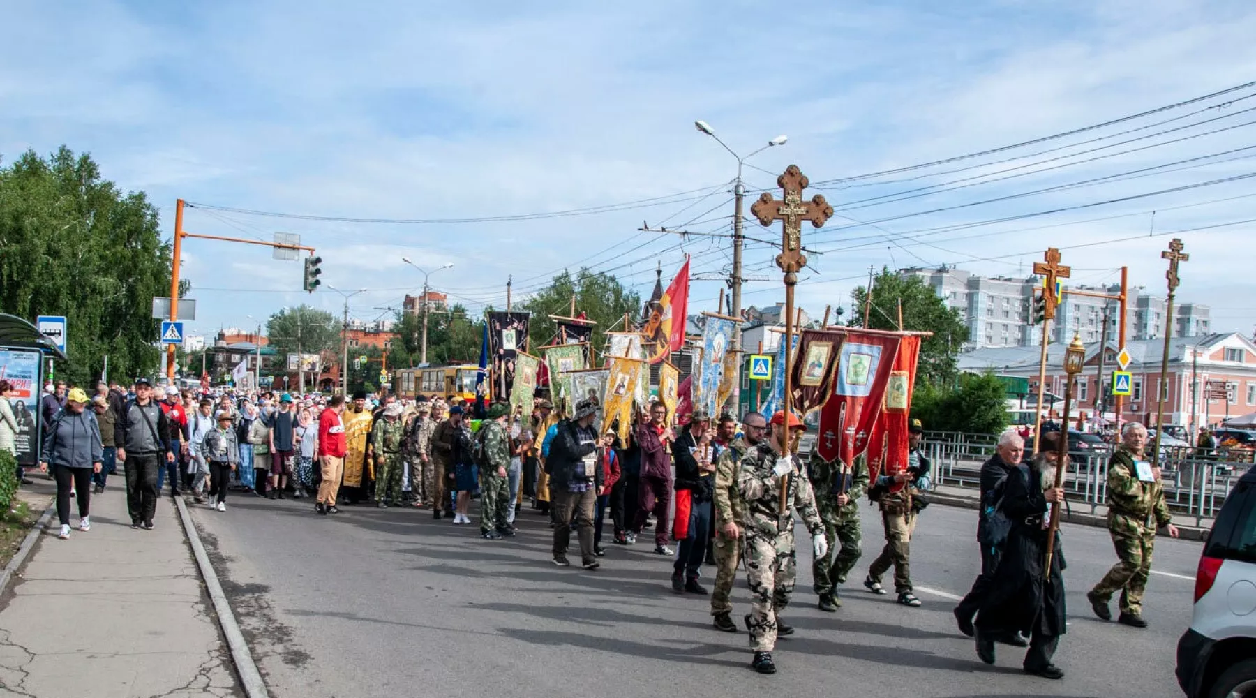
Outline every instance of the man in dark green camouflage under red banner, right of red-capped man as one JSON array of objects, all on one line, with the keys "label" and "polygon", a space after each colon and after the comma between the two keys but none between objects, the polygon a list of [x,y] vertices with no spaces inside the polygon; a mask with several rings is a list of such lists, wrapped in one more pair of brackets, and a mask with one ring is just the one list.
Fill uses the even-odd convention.
[{"label": "man in dark green camouflage under red banner, right of red-capped man", "polygon": [[[818,556],[811,562],[811,577],[815,593],[820,596],[819,609],[836,613],[842,601],[838,600],[838,585],[845,584],[847,575],[859,561],[859,497],[868,491],[868,466],[864,458],[855,458],[854,467],[842,462],[831,463],[820,458],[819,449],[811,449],[811,491],[815,492],[815,508],[824,521],[824,542],[834,555]],[[838,550],[838,541],[842,549]]]}]

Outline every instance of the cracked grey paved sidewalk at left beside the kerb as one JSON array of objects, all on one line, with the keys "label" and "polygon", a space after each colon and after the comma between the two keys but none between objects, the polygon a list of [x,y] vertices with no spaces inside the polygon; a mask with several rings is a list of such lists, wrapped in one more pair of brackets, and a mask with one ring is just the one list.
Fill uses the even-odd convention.
[{"label": "cracked grey paved sidewalk at left beside the kerb", "polygon": [[[55,495],[34,475],[24,487]],[[0,697],[244,695],[168,496],[132,530],[122,473],[92,497],[92,530],[55,515],[0,599]]]}]

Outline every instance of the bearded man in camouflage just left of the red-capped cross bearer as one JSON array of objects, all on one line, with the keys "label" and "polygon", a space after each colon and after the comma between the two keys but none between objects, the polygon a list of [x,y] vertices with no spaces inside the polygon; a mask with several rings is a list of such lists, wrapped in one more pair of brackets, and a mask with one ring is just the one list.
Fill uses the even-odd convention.
[{"label": "bearded man in camouflage just left of the red-capped cross bearer", "polygon": [[732,621],[732,581],[741,561],[741,521],[746,502],[737,488],[737,471],[746,451],[759,446],[767,431],[767,419],[757,412],[741,418],[744,436],[728,444],[715,464],[715,589],[711,590],[711,615],[716,630],[736,633]]}]

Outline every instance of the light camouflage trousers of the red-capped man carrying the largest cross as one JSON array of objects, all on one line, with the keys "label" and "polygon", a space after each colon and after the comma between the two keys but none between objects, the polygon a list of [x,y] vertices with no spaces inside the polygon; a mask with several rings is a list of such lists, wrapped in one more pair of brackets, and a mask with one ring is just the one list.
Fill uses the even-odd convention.
[{"label": "light camouflage trousers of the red-capped man carrying the largest cross", "polygon": [[794,531],[775,536],[747,529],[744,559],[746,585],[750,588],[750,647],[755,652],[771,652],[776,647],[776,624],[789,605],[794,591],[798,564],[794,554]]}]

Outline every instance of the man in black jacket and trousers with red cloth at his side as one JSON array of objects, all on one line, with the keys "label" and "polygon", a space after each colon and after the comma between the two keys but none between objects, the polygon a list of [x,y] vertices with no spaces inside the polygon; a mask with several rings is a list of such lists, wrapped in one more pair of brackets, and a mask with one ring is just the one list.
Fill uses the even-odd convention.
[{"label": "man in black jacket and trousers with red cloth at his side", "polygon": [[677,546],[676,562],[672,565],[672,590],[677,594],[706,595],[707,590],[698,584],[702,561],[706,560],[707,542],[711,537],[711,500],[715,493],[715,448],[711,441],[711,416],[705,409],[695,409],[690,423],[681,436],[672,442],[672,461],[676,463],[677,503],[683,498],[681,492],[688,492],[690,518],[687,535]]}]

